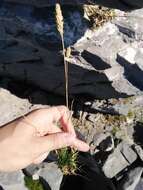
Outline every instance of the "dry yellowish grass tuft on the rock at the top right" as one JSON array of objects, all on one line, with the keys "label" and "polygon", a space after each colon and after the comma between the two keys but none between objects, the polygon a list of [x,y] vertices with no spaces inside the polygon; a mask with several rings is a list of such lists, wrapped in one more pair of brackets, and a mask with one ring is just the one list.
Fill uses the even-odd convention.
[{"label": "dry yellowish grass tuft on the rock at the top right", "polygon": [[84,12],[93,29],[103,26],[104,23],[116,17],[113,9],[98,5],[84,5]]}]

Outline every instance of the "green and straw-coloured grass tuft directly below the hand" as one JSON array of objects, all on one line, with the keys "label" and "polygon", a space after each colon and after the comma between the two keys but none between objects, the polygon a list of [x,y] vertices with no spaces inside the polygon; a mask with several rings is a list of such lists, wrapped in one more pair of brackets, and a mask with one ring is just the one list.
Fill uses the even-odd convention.
[{"label": "green and straw-coloured grass tuft directly below the hand", "polygon": [[62,173],[67,175],[76,175],[78,170],[77,156],[78,151],[71,148],[63,148],[57,151],[58,166]]}]

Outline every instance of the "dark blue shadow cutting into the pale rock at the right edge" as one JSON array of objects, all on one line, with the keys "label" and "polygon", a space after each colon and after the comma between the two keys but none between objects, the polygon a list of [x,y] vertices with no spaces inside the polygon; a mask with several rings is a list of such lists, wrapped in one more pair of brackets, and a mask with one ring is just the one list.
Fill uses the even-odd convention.
[{"label": "dark blue shadow cutting into the pale rock at the right edge", "polygon": [[137,64],[131,64],[118,55],[118,63],[124,67],[124,75],[126,79],[139,90],[143,90],[143,71]]}]

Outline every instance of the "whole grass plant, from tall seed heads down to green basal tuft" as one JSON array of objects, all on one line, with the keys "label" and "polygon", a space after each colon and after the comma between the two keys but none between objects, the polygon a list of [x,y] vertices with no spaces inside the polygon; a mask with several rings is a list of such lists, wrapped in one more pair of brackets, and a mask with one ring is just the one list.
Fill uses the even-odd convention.
[{"label": "whole grass plant, from tall seed heads down to green basal tuft", "polygon": [[[71,49],[67,48],[65,50],[64,45],[64,18],[62,15],[61,6],[56,3],[56,26],[57,30],[61,36],[63,56],[64,56],[64,67],[65,67],[65,95],[66,95],[66,106],[69,108],[69,91],[68,91],[68,63],[66,61],[67,57],[70,57]],[[71,116],[70,116],[71,117]],[[69,118],[71,119],[71,118]],[[77,154],[73,148],[63,148],[57,151],[58,156],[58,166],[64,175],[75,175],[77,170]]]}]

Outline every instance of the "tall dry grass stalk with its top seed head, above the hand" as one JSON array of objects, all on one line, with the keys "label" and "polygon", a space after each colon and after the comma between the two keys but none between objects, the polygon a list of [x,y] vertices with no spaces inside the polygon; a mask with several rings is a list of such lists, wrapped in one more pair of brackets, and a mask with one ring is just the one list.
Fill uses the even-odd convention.
[{"label": "tall dry grass stalk with its top seed head, above the hand", "polygon": [[56,26],[57,30],[60,33],[62,40],[63,56],[64,56],[64,67],[65,67],[65,96],[66,96],[66,106],[69,108],[69,92],[68,92],[68,63],[66,62],[65,57],[65,45],[64,45],[64,18],[62,15],[61,6],[59,3],[56,3]]}]

